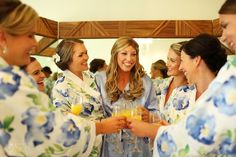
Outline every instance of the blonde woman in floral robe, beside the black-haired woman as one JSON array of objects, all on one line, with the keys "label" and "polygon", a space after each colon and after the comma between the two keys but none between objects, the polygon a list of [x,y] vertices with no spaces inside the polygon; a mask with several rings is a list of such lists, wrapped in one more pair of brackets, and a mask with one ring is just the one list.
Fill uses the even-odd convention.
[{"label": "blonde woman in floral robe, beside the black-haired woman", "polygon": [[176,123],[194,107],[196,89],[194,86],[188,86],[184,73],[179,70],[180,48],[185,43],[170,46],[166,64],[170,77],[159,81],[153,80],[160,116],[165,124]]}]

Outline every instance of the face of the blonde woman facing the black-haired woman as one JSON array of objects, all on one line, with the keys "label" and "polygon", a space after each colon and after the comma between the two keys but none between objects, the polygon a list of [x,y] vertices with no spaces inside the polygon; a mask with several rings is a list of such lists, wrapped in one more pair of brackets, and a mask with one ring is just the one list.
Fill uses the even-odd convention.
[{"label": "face of the blonde woman facing the black-haired woman", "polygon": [[179,70],[179,65],[180,65],[180,56],[178,56],[172,49],[169,49],[166,63],[166,66],[168,68],[167,75],[177,76],[181,74],[182,72]]}]

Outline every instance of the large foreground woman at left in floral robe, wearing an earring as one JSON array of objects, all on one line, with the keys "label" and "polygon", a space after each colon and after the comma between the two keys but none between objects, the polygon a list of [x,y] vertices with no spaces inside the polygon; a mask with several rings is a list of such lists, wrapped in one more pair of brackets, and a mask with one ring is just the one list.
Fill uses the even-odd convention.
[{"label": "large foreground woman at left in floral robe, wearing an earring", "polygon": [[54,111],[20,69],[37,45],[37,13],[20,1],[1,0],[0,15],[0,156],[88,156],[107,126]]}]

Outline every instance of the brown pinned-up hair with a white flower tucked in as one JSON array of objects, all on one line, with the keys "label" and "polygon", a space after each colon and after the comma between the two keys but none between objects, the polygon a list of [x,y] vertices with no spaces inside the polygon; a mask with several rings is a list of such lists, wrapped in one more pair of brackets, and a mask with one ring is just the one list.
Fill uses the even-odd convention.
[{"label": "brown pinned-up hair with a white flower tucked in", "polygon": [[57,45],[56,56],[58,59],[54,59],[54,62],[61,70],[68,69],[68,66],[72,61],[74,45],[76,43],[83,44],[84,42],[80,39],[64,39]]}]

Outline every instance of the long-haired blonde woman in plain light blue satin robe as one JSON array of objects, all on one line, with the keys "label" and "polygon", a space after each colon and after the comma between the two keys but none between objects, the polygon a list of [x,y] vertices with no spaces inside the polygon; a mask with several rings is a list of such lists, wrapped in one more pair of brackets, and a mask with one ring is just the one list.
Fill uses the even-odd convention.
[{"label": "long-haired blonde woman in plain light blue satin robe", "polygon": [[[111,50],[110,64],[106,72],[100,72],[96,76],[96,83],[102,95],[105,115],[110,117],[114,106],[121,106],[124,100],[135,101],[142,108],[156,110],[156,96],[151,79],[145,74],[139,63],[139,46],[135,40],[129,37],[120,37],[114,43]],[[143,118],[147,117],[143,113]],[[122,132],[121,152],[115,152],[118,143],[109,142],[110,136],[106,136],[103,144],[102,156],[151,156],[148,144],[140,139],[141,152],[131,151],[132,145]],[[130,134],[128,132],[128,138]]]}]

